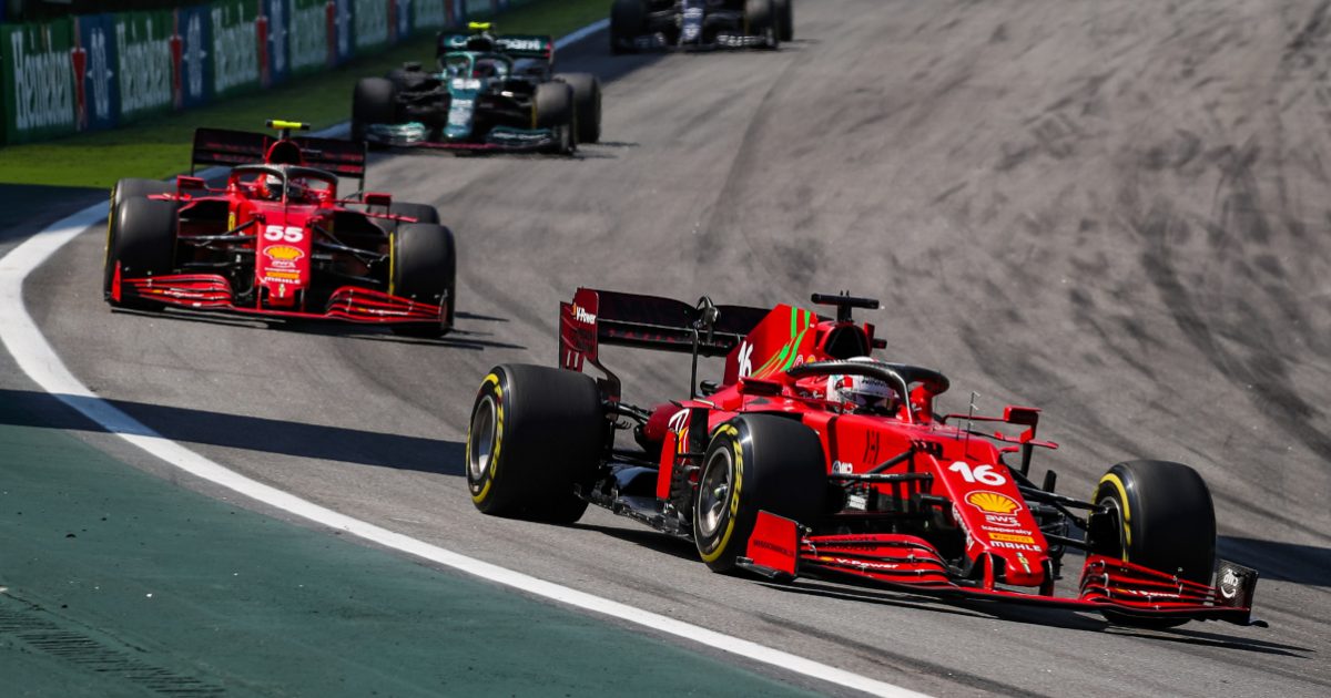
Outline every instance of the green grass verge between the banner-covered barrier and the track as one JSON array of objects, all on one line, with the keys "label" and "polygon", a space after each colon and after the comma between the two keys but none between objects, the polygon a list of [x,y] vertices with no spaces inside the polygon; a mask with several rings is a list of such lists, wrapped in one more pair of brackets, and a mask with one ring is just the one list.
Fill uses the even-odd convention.
[{"label": "green grass verge between the banner-covered barrier and the track", "polygon": [[[535,0],[495,20],[502,33],[567,35],[604,19],[608,0]],[[278,89],[174,112],[130,126],[41,144],[0,148],[0,183],[110,187],[122,177],[161,179],[189,168],[196,126],[258,130],[266,118],[306,121],[315,130],[351,116],[351,88],[403,61],[429,62],[434,36],[394,47]]]}]

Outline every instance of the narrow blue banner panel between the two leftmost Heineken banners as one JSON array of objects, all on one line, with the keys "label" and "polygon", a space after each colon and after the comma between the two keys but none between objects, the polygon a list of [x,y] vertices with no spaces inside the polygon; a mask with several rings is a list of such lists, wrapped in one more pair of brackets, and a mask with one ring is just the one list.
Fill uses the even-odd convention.
[{"label": "narrow blue banner panel between the two leftmost Heineken banners", "polygon": [[75,80],[75,120],[79,130],[109,129],[120,121],[116,16],[75,17],[71,39],[75,47],[69,52],[69,69]]}]

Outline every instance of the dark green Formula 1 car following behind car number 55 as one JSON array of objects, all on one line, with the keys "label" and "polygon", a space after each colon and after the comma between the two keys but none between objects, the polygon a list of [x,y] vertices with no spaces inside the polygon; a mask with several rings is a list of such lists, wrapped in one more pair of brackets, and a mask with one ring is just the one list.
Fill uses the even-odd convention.
[{"label": "dark green Formula 1 car following behind car number 55", "polygon": [[437,72],[418,62],[366,77],[351,97],[351,140],[398,148],[572,153],[600,140],[600,82],[555,73],[548,36],[443,32]]}]

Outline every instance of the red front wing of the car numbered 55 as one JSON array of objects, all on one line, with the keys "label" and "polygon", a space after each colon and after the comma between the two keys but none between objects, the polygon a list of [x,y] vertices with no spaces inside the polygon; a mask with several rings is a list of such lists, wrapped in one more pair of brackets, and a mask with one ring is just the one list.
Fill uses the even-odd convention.
[{"label": "red front wing of the car numbered 55", "polygon": [[121,277],[118,265],[112,278],[110,299],[117,303],[142,299],[192,310],[343,320],[366,324],[443,322],[443,316],[447,312],[447,303],[453,302],[453,299],[446,299],[445,304],[435,306],[389,295],[373,289],[342,286],[329,295],[329,300],[321,312],[237,306],[234,304],[230,283],[221,275],[164,274],[158,277],[126,278]]}]

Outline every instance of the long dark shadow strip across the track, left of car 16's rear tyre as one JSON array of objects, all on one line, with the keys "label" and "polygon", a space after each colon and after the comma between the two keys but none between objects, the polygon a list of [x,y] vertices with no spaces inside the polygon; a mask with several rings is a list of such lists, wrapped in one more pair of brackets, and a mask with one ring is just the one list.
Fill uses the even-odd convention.
[{"label": "long dark shadow strip across the track, left of car 16's rear tyre", "polygon": [[[258,453],[297,456],[375,468],[395,468],[461,476],[459,441],[383,433],[346,427],[306,424],[284,419],[230,415],[209,409],[164,407],[128,400],[100,400],[79,395],[0,390],[0,425],[109,433],[72,406],[105,409],[104,402],[138,420],[152,433],[182,444],[236,448]],[[144,432],[136,432],[144,435]]]}]

